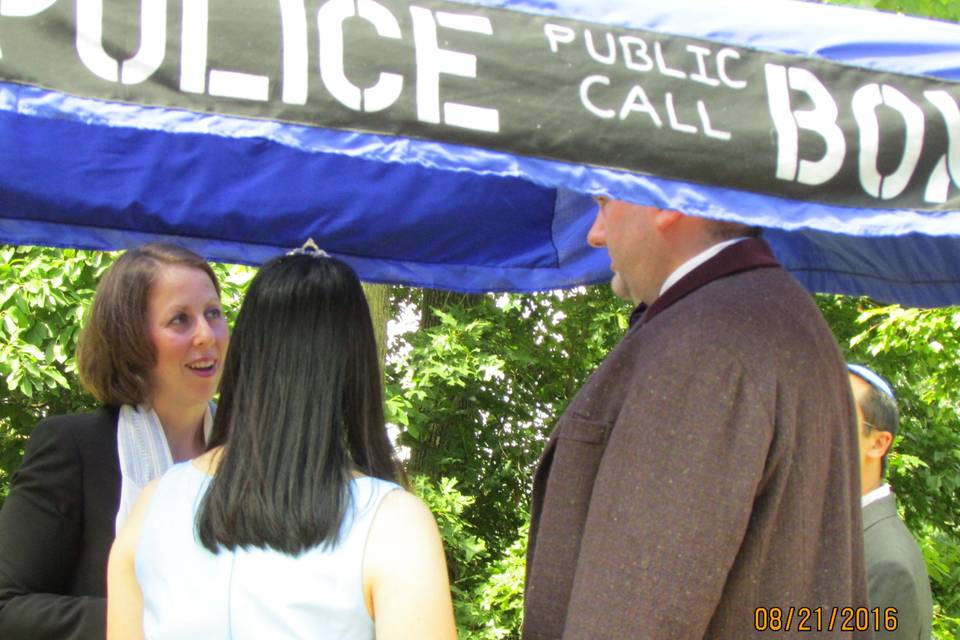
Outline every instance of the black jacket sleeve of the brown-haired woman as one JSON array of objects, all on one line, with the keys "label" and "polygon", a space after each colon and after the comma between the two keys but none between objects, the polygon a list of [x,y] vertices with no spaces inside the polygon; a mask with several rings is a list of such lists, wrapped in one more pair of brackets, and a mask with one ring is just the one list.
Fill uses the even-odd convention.
[{"label": "black jacket sleeve of the brown-haired woman", "polygon": [[0,510],[0,638],[105,636],[104,598],[62,595],[83,543],[82,480],[70,429],[38,424]]}]

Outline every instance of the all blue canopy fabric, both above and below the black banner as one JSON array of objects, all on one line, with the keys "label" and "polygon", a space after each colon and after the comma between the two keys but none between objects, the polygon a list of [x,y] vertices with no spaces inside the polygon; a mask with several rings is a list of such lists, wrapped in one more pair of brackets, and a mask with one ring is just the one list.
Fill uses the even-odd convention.
[{"label": "all blue canopy fabric, both above and below the black banner", "polygon": [[[951,23],[792,0],[472,3],[960,81]],[[605,252],[584,241],[594,210],[586,194],[602,193],[763,226],[814,291],[960,304],[955,210],[811,204],[9,83],[0,83],[0,135],[4,242],[116,249],[165,239],[256,264],[312,235],[369,281],[537,291],[609,277]]]}]

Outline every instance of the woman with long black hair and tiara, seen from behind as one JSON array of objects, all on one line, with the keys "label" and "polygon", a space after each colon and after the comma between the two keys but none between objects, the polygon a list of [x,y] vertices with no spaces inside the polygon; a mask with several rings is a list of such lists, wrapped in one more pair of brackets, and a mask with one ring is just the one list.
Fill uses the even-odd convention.
[{"label": "woman with long black hair and tiara, seen from behind", "polygon": [[108,638],[456,637],[442,544],[401,490],[360,282],[298,252],[250,285],[211,450],[111,552]]}]

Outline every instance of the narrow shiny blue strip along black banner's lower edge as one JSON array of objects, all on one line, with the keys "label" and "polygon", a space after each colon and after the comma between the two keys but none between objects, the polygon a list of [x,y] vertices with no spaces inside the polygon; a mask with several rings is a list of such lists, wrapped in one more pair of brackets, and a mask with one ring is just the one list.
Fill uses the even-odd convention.
[{"label": "narrow shiny blue strip along black banner's lower edge", "polygon": [[[13,94],[11,96],[10,94]],[[481,176],[523,178],[535,185],[562,187],[583,194],[604,194],[677,209],[691,215],[733,220],[786,230],[810,228],[851,235],[960,235],[960,211],[918,212],[811,203],[735,189],[692,185],[623,171],[434,141],[336,131],[266,120],[198,114],[77,98],[35,87],[0,83],[0,109],[43,118],[130,127],[148,131],[264,139],[309,153],[336,154],[424,169],[473,172]],[[83,135],[78,130],[77,135]]]}]

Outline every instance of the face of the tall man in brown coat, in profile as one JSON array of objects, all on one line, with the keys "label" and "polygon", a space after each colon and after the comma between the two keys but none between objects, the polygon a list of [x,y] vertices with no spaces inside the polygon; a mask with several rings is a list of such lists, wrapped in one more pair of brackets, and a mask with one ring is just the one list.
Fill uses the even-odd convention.
[{"label": "face of the tall man in brown coat, in profile", "polygon": [[653,290],[657,283],[651,278],[656,255],[651,208],[605,196],[594,199],[599,209],[587,242],[593,247],[606,247],[614,295],[634,304],[653,302],[660,292]]}]

